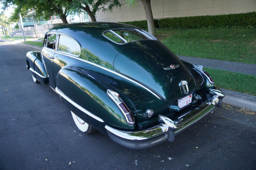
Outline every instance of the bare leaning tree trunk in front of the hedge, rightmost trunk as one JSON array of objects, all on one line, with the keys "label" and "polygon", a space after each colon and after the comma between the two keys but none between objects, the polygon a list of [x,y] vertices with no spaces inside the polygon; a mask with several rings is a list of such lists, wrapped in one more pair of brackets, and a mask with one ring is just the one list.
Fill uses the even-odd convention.
[{"label": "bare leaning tree trunk in front of the hedge, rightmost trunk", "polygon": [[150,0],[141,0],[141,2],[143,3],[146,18],[148,21],[148,32],[149,32],[149,34],[156,37],[157,33],[156,33],[155,25],[154,25],[154,19],[153,19],[153,14],[152,14],[152,10],[151,10]]}]

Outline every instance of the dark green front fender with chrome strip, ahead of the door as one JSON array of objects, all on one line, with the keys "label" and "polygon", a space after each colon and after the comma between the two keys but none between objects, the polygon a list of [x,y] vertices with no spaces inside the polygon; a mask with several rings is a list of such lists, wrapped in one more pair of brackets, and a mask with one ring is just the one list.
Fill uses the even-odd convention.
[{"label": "dark green front fender with chrome strip, ahead of the door", "polygon": [[48,84],[48,74],[41,58],[41,51],[29,51],[26,54],[27,68],[32,71],[32,75],[42,84]]}]

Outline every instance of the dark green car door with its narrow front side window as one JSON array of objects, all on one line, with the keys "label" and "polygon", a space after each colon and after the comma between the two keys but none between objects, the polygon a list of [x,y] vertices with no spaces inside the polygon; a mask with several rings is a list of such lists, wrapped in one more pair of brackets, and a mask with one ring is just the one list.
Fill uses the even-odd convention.
[{"label": "dark green car door with its narrow front side window", "polygon": [[49,32],[47,33],[44,40],[44,47],[42,48],[41,55],[44,59],[44,64],[49,76],[49,85],[52,88],[55,88],[55,82],[53,77],[53,59],[55,56],[55,46],[56,46],[56,33]]}]

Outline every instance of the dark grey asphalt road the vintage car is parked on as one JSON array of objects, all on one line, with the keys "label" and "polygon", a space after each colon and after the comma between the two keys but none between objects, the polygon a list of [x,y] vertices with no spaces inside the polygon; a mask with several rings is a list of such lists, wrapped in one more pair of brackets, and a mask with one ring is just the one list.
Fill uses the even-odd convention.
[{"label": "dark grey asphalt road the vintage car is parked on", "polygon": [[[26,69],[33,48],[0,40],[0,170],[255,170],[255,113],[226,105],[145,150],[84,135],[48,85]],[[71,163],[71,164],[70,164]]]}]

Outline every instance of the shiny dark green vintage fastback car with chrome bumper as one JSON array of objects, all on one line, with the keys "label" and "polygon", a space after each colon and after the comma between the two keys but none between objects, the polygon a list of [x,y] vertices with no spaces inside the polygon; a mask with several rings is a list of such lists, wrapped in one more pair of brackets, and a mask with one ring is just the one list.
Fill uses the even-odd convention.
[{"label": "shiny dark green vintage fastback car with chrome bumper", "polygon": [[81,131],[99,130],[134,149],[173,142],[224,97],[201,65],[126,24],[57,26],[26,62],[34,82],[59,94]]}]

